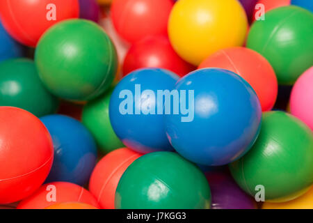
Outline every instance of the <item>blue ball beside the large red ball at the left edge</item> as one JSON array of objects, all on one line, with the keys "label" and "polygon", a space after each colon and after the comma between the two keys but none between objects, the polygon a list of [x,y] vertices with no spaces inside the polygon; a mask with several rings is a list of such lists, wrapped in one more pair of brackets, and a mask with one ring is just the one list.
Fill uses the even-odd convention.
[{"label": "blue ball beside the large red ball at the left edge", "polygon": [[54,163],[46,183],[66,181],[85,185],[97,159],[90,132],[77,120],[60,114],[40,118],[54,142]]}]

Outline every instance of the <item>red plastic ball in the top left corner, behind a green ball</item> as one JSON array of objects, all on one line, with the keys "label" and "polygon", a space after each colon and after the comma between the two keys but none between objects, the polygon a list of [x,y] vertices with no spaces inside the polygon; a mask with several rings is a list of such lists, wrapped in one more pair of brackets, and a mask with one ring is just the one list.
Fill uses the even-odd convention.
[{"label": "red plastic ball in the top left corner, behind a green ball", "polygon": [[3,26],[15,40],[30,47],[35,47],[49,27],[78,16],[78,0],[0,1]]}]

